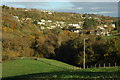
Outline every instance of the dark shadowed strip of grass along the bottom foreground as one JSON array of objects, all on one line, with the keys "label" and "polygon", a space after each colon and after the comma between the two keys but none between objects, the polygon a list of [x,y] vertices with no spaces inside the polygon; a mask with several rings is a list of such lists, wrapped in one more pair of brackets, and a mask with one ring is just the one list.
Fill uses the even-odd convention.
[{"label": "dark shadowed strip of grass along the bottom foreground", "polygon": [[3,78],[2,80],[103,80],[103,79],[120,80],[120,72],[59,71],[7,77]]}]

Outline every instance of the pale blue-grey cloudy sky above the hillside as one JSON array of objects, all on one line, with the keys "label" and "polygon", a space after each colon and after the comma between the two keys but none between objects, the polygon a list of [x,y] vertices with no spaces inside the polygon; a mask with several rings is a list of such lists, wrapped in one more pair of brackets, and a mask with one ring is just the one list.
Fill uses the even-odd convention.
[{"label": "pale blue-grey cloudy sky above the hillside", "polygon": [[[11,2],[12,1],[12,2]],[[14,2],[15,1],[15,2]],[[34,1],[34,2],[33,2]],[[93,13],[105,16],[118,16],[119,0],[3,0],[1,5],[18,8],[36,8],[59,12]],[[46,2],[45,2],[46,1]],[[103,2],[104,1],[104,2]]]}]

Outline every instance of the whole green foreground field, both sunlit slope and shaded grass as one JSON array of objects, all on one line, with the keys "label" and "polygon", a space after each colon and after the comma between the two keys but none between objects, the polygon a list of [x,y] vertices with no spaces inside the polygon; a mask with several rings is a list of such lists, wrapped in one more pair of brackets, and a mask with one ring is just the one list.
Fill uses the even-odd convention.
[{"label": "whole green foreground field, both sunlit slope and shaded grass", "polygon": [[63,62],[41,58],[18,59],[3,62],[3,79],[11,80],[53,80],[55,78],[77,79],[120,79],[120,67],[81,69]]}]

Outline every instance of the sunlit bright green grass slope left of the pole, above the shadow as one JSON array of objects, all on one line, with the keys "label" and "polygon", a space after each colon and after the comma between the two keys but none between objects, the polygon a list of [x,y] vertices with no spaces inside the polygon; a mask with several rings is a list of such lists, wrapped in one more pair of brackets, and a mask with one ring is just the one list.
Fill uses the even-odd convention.
[{"label": "sunlit bright green grass slope left of the pole, above the shadow", "polygon": [[56,60],[40,58],[39,60],[34,59],[18,59],[12,61],[6,61],[2,64],[2,76],[13,77],[22,76],[28,74],[37,73],[48,73],[48,72],[58,72],[58,71],[69,71],[77,70],[80,68],[68,65],[63,62]]}]

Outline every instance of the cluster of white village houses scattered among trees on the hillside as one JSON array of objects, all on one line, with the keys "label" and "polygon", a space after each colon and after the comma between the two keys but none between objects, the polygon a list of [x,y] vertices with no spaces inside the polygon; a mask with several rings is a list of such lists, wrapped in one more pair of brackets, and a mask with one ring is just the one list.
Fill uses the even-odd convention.
[{"label": "cluster of white village houses scattered among trees on the hillside", "polygon": [[[27,9],[25,9],[25,11],[28,11]],[[54,12],[51,11],[43,11],[45,13],[48,13],[48,15],[52,15]],[[102,19],[100,19],[99,17],[83,17],[83,15],[81,15],[82,21],[78,21],[77,23],[67,23],[67,21],[63,22],[63,21],[52,21],[52,20],[45,20],[45,19],[39,19],[39,20],[34,20],[32,18],[19,18],[18,16],[13,16],[13,18],[15,18],[18,22],[20,23],[25,23],[27,21],[30,21],[38,26],[40,26],[41,30],[44,29],[53,29],[56,27],[59,27],[61,29],[66,29],[69,30],[71,32],[75,32],[75,33],[79,33],[82,34],[83,32],[83,24],[84,24],[84,19],[94,19],[98,22],[102,22]],[[106,20],[108,24],[100,24],[95,26],[95,29],[91,29],[89,30],[90,34],[95,34],[95,35],[107,35],[110,36],[111,31],[116,29],[116,25],[115,23],[113,23],[113,20]]]}]

